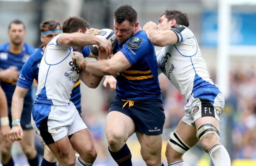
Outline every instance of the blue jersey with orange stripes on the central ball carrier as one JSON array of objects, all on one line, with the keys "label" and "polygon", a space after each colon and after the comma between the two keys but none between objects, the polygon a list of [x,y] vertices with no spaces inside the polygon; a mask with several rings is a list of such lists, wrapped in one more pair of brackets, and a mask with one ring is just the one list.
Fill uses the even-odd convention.
[{"label": "blue jersey with orange stripes on the central ball carrier", "polygon": [[161,99],[156,53],[146,33],[141,30],[124,44],[117,42],[113,53],[118,51],[132,66],[117,77],[116,97],[134,101]]}]

